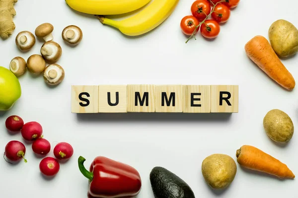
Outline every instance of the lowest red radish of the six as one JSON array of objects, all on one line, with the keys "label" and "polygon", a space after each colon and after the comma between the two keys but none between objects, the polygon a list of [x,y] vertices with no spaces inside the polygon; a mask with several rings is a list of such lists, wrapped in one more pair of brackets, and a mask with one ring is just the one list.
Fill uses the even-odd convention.
[{"label": "lowest red radish of the six", "polygon": [[54,157],[45,157],[39,163],[39,170],[46,176],[54,176],[59,172],[60,164]]}]

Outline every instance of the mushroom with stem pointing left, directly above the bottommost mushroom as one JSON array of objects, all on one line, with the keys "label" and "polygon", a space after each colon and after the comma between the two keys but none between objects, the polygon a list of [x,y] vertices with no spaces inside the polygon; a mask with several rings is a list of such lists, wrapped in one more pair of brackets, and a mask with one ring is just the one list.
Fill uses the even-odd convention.
[{"label": "mushroom with stem pointing left, directly above the bottommost mushroom", "polygon": [[58,43],[48,41],[42,45],[40,53],[47,62],[54,63],[61,57],[62,48]]}]

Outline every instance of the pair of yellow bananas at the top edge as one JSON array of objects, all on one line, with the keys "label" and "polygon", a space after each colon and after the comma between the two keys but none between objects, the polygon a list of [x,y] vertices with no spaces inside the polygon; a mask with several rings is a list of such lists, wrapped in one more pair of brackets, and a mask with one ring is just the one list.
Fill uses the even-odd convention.
[{"label": "pair of yellow bananas at the top edge", "polygon": [[[113,26],[127,36],[145,34],[160,25],[179,0],[65,0],[74,10],[95,15],[102,24]],[[150,2],[150,3],[149,3]],[[105,15],[129,13],[147,5],[139,13],[115,21]]]}]

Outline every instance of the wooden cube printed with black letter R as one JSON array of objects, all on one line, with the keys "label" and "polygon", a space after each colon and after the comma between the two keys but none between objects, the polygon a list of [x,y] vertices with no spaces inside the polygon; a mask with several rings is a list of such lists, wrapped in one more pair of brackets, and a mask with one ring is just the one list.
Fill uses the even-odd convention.
[{"label": "wooden cube printed with black letter R", "polygon": [[211,112],[238,113],[238,85],[212,85]]}]

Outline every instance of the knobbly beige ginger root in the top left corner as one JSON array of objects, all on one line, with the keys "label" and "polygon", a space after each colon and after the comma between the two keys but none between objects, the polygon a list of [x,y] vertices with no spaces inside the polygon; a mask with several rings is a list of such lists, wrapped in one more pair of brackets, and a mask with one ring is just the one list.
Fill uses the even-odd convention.
[{"label": "knobbly beige ginger root in the top left corner", "polygon": [[16,2],[17,0],[0,0],[0,37],[2,39],[7,39],[15,29],[13,16],[16,12],[13,5]]}]

